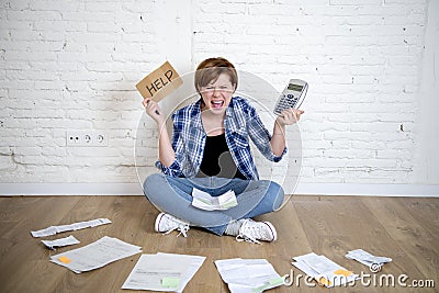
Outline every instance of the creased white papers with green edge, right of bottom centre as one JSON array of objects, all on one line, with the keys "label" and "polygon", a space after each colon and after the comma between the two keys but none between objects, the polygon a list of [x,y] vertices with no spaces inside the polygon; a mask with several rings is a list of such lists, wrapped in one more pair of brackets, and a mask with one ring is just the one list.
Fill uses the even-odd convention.
[{"label": "creased white papers with green edge, right of bottom centre", "polygon": [[266,259],[216,260],[215,266],[232,293],[262,292],[284,283]]}]

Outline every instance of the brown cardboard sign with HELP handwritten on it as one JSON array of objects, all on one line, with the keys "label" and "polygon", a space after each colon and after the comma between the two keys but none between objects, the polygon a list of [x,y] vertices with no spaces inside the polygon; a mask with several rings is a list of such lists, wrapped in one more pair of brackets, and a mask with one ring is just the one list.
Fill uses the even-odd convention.
[{"label": "brown cardboard sign with HELP handwritten on it", "polygon": [[166,61],[159,68],[142,79],[136,88],[144,99],[153,98],[159,102],[183,83],[179,74]]}]

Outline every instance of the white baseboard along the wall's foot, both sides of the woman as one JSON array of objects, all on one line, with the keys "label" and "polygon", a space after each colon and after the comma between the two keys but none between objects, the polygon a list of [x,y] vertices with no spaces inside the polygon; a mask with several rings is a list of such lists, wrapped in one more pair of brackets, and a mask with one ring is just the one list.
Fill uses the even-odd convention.
[{"label": "white baseboard along the wall's foot, both sides of the woman", "polygon": [[[294,194],[439,198],[439,185],[299,183]],[[139,183],[0,183],[0,195],[143,195]]]}]

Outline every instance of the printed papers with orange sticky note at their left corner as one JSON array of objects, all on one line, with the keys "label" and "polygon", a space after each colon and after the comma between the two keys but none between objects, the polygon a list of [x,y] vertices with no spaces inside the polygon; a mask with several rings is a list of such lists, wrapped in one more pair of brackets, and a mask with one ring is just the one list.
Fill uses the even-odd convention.
[{"label": "printed papers with orange sticky note at their left corner", "polygon": [[110,262],[142,252],[142,247],[104,236],[78,249],[50,257],[50,261],[76,273],[99,269]]}]

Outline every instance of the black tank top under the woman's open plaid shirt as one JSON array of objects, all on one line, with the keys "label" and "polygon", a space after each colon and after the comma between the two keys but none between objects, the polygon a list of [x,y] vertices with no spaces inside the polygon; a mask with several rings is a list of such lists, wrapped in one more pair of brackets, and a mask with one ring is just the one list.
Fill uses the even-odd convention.
[{"label": "black tank top under the woman's open plaid shirt", "polygon": [[212,176],[246,179],[238,168],[236,168],[224,133],[206,137],[203,160],[201,161],[200,172],[196,177]]}]

